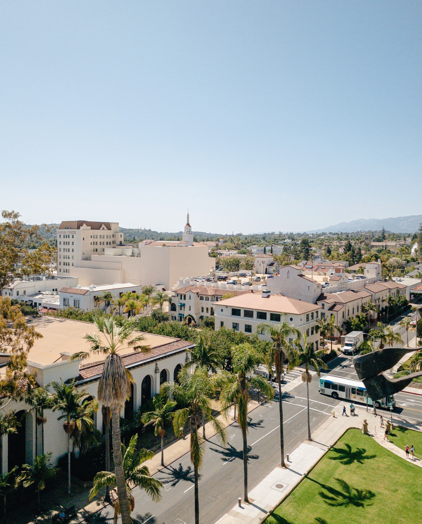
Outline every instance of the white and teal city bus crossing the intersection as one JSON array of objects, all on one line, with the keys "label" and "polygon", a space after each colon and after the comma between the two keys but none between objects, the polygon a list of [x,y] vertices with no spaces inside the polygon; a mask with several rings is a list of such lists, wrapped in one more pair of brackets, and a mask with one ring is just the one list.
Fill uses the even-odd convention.
[{"label": "white and teal city bus crossing the intersection", "polygon": [[[322,395],[330,395],[332,398],[352,400],[353,402],[363,402],[368,406],[373,406],[373,401],[371,398],[366,397],[366,388],[363,385],[363,382],[359,380],[353,380],[351,378],[343,377],[333,377],[332,375],[327,375],[324,378],[319,379],[319,390]],[[392,406],[393,409],[396,406],[396,401],[394,400],[394,395],[389,395],[388,397],[381,398],[375,401],[376,408],[386,408]]]}]

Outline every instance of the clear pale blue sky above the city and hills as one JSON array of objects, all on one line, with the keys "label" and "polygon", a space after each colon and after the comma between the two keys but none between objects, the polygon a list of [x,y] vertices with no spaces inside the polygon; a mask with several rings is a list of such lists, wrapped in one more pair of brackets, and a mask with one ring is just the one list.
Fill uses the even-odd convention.
[{"label": "clear pale blue sky above the city and hills", "polygon": [[0,206],[321,228],[421,213],[420,2],[2,2]]}]

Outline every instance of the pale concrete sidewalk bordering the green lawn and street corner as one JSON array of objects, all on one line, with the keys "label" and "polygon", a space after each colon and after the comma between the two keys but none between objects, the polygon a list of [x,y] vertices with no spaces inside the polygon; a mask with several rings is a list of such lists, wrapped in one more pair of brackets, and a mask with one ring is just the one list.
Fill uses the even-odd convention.
[{"label": "pale concrete sidewalk bordering the green lawn and street corner", "polygon": [[[405,452],[391,442],[383,440],[384,429],[380,427],[380,416],[374,416],[365,409],[356,409],[354,417],[342,416],[342,406],[334,409],[335,416],[323,422],[320,427],[313,432],[312,441],[305,441],[291,453],[287,469],[276,467],[267,475],[263,481],[255,486],[248,494],[251,504],[243,501],[239,507],[236,504],[228,513],[218,520],[218,524],[260,524],[277,507],[289,493],[299,484],[300,480],[306,475],[313,466],[321,459],[330,447],[335,444],[341,435],[349,428],[362,429],[362,422],[366,419],[368,430],[378,443],[393,451],[396,455],[403,456],[406,460]],[[383,412],[381,412],[384,414]],[[388,417],[385,417],[385,421]],[[395,424],[422,431],[422,425],[415,424],[406,419],[394,419]],[[422,466],[421,461],[415,461]]]}]

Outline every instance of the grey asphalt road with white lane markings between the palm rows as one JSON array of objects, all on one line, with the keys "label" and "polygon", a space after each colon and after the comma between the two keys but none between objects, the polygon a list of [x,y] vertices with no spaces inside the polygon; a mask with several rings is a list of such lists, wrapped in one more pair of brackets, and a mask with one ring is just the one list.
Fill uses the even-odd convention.
[{"label": "grey asphalt road with white lane markings between the palm rows", "polygon": [[[398,326],[395,330],[402,331]],[[414,335],[412,334],[412,337]],[[403,337],[405,340],[405,337]],[[409,337],[411,345],[412,339]],[[351,357],[340,356],[329,364],[324,374],[357,379]],[[286,381],[298,381],[300,372],[293,372]],[[334,406],[344,401],[321,395],[318,379],[310,384],[311,430],[315,430]],[[421,391],[422,392],[422,391]],[[406,416],[422,421],[422,396],[401,393],[396,395],[395,416]],[[389,414],[389,411],[381,410]],[[306,385],[298,384],[283,395],[285,453],[291,453],[307,438]],[[199,507],[201,524],[214,524],[243,496],[242,435],[236,422],[228,427],[229,444],[225,448],[217,439],[207,441],[203,466],[200,470]],[[250,412],[248,445],[248,487],[252,489],[280,463],[278,393],[274,401]],[[134,522],[149,524],[193,524],[193,468],[189,453],[154,475],[164,483],[162,499],[154,503],[142,490],[134,489]],[[90,522],[113,521],[113,509],[105,508]]]}]

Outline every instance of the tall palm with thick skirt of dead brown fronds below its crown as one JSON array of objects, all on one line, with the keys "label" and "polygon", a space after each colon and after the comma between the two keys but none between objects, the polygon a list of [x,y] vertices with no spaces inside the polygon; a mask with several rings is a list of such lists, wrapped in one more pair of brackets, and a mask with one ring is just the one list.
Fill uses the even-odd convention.
[{"label": "tall palm with thick skirt of dead brown fronds below its crown", "polygon": [[86,333],[84,339],[89,342],[89,351],[80,351],[72,355],[72,360],[85,359],[90,355],[105,356],[103,373],[98,385],[98,400],[111,409],[113,459],[117,485],[117,496],[120,501],[122,524],[131,523],[129,504],[126,496],[125,474],[120,435],[120,408],[126,398],[131,395],[131,373],[125,368],[121,351],[132,347],[134,351],[146,353],[149,346],[142,346],[143,335],[135,335],[137,326],[125,319],[121,326],[116,324],[114,317],[102,317],[94,320],[96,333]]}]

